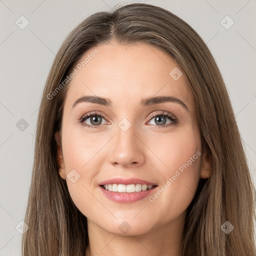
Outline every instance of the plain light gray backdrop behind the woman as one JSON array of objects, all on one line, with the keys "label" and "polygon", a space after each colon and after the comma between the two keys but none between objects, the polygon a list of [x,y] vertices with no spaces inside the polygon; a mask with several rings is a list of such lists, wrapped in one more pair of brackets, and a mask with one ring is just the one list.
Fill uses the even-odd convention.
[{"label": "plain light gray backdrop behind the woman", "polygon": [[[108,11],[118,2],[0,0],[0,256],[20,255],[22,234],[18,230],[31,180],[36,118],[55,53],[81,20],[96,11]],[[256,1],[121,2],[166,8],[190,24],[207,43],[227,86],[255,184]],[[24,29],[15,23],[25,24],[21,15],[29,21]],[[229,29],[222,24],[227,26],[230,20],[221,24],[226,15],[234,21]],[[28,127],[19,126],[24,124],[21,118]]]}]

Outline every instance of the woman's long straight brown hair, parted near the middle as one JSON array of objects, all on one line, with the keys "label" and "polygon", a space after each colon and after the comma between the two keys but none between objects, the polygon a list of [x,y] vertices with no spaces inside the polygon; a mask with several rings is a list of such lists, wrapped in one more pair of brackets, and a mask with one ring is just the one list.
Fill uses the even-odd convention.
[{"label": "woman's long straight brown hair, parted near the middle", "polygon": [[[85,254],[86,217],[72,202],[66,181],[58,174],[54,134],[61,127],[68,88],[64,79],[85,51],[113,38],[125,44],[145,42],[169,54],[193,92],[212,174],[199,180],[187,209],[183,255],[255,256],[255,189],[221,74],[191,26],[163,8],[143,3],[90,15],[69,33],[53,61],[38,114],[24,219],[29,229],[22,236],[22,255]],[[228,234],[221,229],[225,221],[234,226]]]}]

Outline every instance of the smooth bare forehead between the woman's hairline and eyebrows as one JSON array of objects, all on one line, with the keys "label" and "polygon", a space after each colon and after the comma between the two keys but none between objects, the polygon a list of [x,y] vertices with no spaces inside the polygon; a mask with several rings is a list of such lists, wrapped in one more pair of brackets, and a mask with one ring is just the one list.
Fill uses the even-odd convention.
[{"label": "smooth bare forehead between the woman's hairline and eyebrows", "polygon": [[71,104],[82,95],[97,95],[111,99],[117,107],[139,104],[145,97],[171,95],[193,108],[191,89],[184,75],[173,79],[169,74],[177,68],[167,53],[143,42],[123,45],[111,41],[97,45],[77,61],[66,103]]}]

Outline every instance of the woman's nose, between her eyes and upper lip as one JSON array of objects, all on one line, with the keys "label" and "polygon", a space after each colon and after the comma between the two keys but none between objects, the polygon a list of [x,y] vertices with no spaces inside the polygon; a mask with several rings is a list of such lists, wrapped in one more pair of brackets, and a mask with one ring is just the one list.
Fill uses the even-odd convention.
[{"label": "woman's nose, between her eyes and upper lip", "polygon": [[138,167],[144,163],[146,146],[137,133],[135,125],[131,125],[126,131],[117,126],[116,135],[110,147],[109,161],[111,164]]}]

